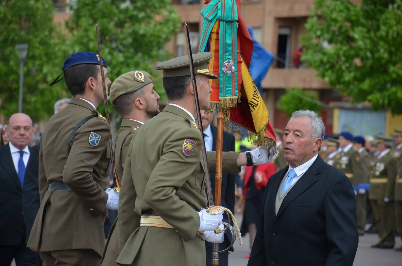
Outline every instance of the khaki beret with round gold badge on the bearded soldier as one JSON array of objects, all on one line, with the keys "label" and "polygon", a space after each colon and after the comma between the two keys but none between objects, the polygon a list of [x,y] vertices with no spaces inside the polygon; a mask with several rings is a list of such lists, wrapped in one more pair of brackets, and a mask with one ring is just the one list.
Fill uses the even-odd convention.
[{"label": "khaki beret with round gold badge on the bearded soldier", "polygon": [[134,70],[127,72],[113,82],[110,87],[109,99],[115,105],[115,100],[123,94],[131,94],[151,83],[151,75],[145,71]]}]

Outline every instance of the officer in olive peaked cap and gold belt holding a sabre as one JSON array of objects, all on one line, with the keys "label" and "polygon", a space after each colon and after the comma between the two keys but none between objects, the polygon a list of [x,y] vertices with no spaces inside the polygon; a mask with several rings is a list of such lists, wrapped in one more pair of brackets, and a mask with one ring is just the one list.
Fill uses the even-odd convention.
[{"label": "officer in olive peaked cap and gold belt holding a sabre", "polygon": [[[208,65],[211,53],[194,54],[199,105],[209,108],[212,91]],[[119,207],[118,264],[205,266],[205,243],[222,242],[211,233],[222,215],[206,207],[201,162],[202,135],[195,124],[195,104],[188,57],[160,63],[169,105],[146,122],[131,140],[125,161]],[[139,141],[137,141],[137,139]],[[226,152],[223,172],[238,173],[239,166],[268,162],[273,154]],[[208,167],[215,171],[215,154],[208,153]],[[212,155],[212,156],[209,156]],[[249,157],[252,155],[252,159]],[[220,215],[220,216],[219,216]],[[215,237],[217,236],[217,237]],[[222,238],[222,240],[218,239]]]}]

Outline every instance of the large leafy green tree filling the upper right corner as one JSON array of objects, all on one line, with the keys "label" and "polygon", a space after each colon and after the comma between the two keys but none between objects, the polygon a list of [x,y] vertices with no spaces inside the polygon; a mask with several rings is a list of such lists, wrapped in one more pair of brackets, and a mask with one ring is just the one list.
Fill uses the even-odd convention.
[{"label": "large leafy green tree filling the upper right corner", "polygon": [[[356,1],[355,1],[356,2]],[[402,0],[316,0],[302,59],[329,87],[402,113]]]}]

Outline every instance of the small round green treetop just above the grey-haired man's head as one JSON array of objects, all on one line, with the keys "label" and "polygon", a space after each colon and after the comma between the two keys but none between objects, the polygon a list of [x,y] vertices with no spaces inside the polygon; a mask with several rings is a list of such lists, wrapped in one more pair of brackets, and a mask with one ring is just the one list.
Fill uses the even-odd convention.
[{"label": "small round green treetop just above the grey-haired man's head", "polygon": [[316,91],[291,88],[286,89],[286,93],[279,98],[277,107],[290,116],[297,110],[311,110],[318,113],[322,103],[319,102]]}]

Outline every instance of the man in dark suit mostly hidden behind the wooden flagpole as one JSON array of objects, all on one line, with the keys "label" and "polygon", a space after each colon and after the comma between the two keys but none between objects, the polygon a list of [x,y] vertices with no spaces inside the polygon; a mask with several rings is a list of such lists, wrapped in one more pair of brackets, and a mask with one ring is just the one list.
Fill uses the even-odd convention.
[{"label": "man in dark suit mostly hidden behind the wooden flagpole", "polygon": [[[213,120],[212,114],[205,114],[203,110],[201,110],[201,121],[204,130],[204,140],[205,140],[205,148],[207,151],[216,151],[216,126],[211,125]],[[223,148],[222,150],[225,152],[234,151],[234,136],[224,132],[223,138]],[[234,203],[235,203],[235,183],[236,183],[236,175],[237,174],[222,174],[222,194],[221,194],[221,206],[226,207],[234,213]],[[212,193],[215,192],[215,174],[210,174]],[[215,195],[213,195],[213,199],[215,200]],[[226,213],[224,214],[223,221],[228,222],[228,216]],[[226,230],[228,232],[229,230]],[[229,235],[228,235],[229,234]],[[232,240],[232,236],[230,233],[226,233],[224,237],[224,242],[219,244],[219,249],[226,249]],[[207,266],[211,265],[212,259],[212,243],[205,241],[205,250],[207,256]],[[233,251],[233,248],[229,249]],[[227,266],[228,265],[228,251],[219,254],[219,265]]]}]

